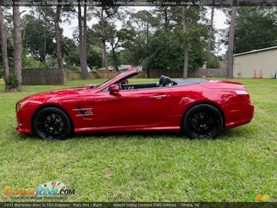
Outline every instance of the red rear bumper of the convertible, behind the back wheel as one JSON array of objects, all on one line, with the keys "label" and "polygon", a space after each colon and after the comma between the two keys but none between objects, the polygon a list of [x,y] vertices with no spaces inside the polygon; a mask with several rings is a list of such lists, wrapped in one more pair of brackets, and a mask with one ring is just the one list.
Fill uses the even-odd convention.
[{"label": "red rear bumper of the convertible, behind the back wheel", "polygon": [[222,107],[225,115],[225,129],[249,123],[254,116],[252,103],[232,103]]}]

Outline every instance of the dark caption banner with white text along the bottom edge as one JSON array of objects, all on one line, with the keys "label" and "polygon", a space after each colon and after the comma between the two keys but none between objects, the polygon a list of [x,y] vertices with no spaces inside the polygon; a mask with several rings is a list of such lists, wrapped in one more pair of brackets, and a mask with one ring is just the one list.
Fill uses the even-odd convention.
[{"label": "dark caption banner with white text along the bottom edge", "polygon": [[0,208],[275,208],[277,202],[1,202]]}]

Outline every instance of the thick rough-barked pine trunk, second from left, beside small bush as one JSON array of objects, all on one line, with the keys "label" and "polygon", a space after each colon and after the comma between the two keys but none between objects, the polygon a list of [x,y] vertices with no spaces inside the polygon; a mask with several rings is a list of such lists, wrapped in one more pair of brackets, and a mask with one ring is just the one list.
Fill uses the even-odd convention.
[{"label": "thick rough-barked pine trunk, second from left, beside small bush", "polygon": [[13,18],[14,18],[14,73],[18,80],[18,89],[21,90],[22,89],[21,23],[20,23],[19,6],[13,6],[12,11],[13,11]]}]

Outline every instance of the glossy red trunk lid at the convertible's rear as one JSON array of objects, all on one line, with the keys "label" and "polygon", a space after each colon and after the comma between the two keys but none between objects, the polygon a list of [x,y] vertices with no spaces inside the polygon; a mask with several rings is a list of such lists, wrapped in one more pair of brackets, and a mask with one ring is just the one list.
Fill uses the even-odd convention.
[{"label": "glossy red trunk lid at the convertible's rear", "polygon": [[201,83],[201,86],[206,88],[217,88],[217,89],[233,89],[233,90],[245,90],[243,84],[233,81],[225,80],[209,80],[206,83]]}]

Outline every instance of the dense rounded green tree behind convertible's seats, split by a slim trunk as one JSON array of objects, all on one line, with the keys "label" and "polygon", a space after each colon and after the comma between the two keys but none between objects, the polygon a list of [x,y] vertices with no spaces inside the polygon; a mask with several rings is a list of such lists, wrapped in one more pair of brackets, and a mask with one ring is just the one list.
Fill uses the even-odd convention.
[{"label": "dense rounded green tree behind convertible's seats, split by a slim trunk", "polygon": [[[149,68],[183,69],[184,66],[184,44],[180,40],[182,31],[176,29],[171,32],[167,29],[160,29],[149,36],[147,50],[149,57],[146,57],[146,64]],[[196,36],[197,37],[197,36]],[[188,68],[194,70],[203,66],[205,60],[203,41],[190,40],[188,53]]]}]

